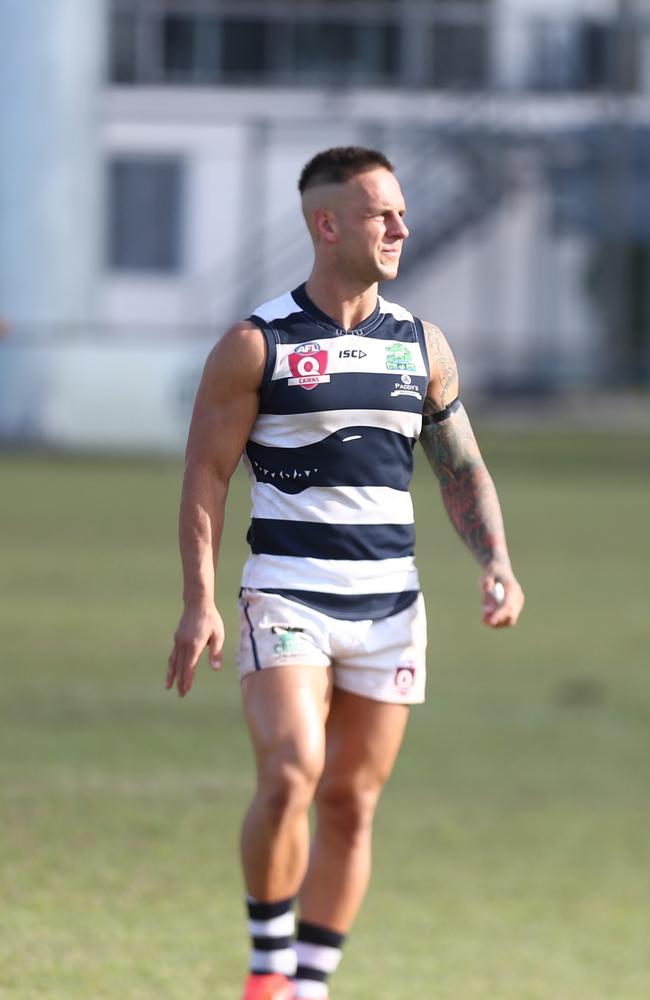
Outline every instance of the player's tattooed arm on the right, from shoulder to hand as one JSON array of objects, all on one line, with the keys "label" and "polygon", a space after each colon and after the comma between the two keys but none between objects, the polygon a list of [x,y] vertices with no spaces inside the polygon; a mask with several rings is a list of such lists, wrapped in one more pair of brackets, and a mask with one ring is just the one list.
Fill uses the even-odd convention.
[{"label": "player's tattooed arm on the right, from shoulder to hand", "polygon": [[[467,414],[457,402],[454,356],[436,326],[425,323],[424,330],[431,377],[420,441],[452,524],[482,567],[483,621],[494,628],[514,625],[524,595],[510,565],[499,498]],[[497,580],[505,589],[501,604],[492,596]]]}]

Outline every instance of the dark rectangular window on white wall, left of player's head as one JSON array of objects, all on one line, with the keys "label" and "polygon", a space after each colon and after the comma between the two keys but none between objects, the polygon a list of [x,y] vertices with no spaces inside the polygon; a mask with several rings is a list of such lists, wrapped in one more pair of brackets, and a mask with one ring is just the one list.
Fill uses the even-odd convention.
[{"label": "dark rectangular window on white wall, left of player's head", "polygon": [[182,266],[183,164],[124,156],[109,167],[109,267],[173,274]]}]

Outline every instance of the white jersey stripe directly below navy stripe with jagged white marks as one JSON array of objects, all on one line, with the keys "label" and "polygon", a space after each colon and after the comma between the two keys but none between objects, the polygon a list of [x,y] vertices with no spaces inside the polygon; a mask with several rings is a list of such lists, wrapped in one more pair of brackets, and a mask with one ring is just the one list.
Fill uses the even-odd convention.
[{"label": "white jersey stripe directly below navy stripe with jagged white marks", "polygon": [[390,486],[310,486],[283,493],[272,483],[257,483],[253,517],[324,524],[413,524],[413,501]]}]

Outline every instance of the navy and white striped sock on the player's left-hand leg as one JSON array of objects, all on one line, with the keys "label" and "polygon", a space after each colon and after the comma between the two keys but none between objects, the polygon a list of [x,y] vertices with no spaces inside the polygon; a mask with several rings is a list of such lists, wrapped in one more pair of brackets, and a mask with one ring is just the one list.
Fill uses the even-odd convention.
[{"label": "navy and white striped sock on the player's left-hand leg", "polygon": [[250,971],[256,975],[279,972],[283,976],[293,976],[296,971],[296,953],[293,949],[293,935],[296,921],[293,914],[293,899],[282,899],[277,903],[260,903],[247,897],[248,930],[252,950]]}]

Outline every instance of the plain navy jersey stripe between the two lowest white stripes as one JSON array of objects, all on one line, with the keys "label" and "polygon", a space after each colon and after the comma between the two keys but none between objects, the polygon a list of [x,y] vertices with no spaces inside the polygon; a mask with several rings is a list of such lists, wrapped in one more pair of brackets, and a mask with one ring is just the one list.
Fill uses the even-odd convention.
[{"label": "plain navy jersey stripe between the two lowest white stripes", "polygon": [[254,517],[251,550],[310,559],[401,559],[413,555],[412,524],[323,524]]}]

